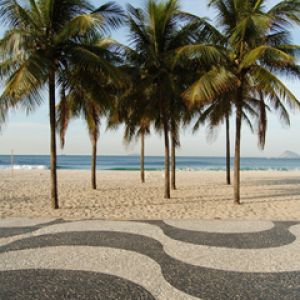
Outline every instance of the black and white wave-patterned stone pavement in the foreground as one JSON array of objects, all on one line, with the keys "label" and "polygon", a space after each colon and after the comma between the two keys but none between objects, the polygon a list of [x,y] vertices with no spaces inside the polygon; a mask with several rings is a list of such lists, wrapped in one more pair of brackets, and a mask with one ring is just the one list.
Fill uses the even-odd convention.
[{"label": "black and white wave-patterned stone pavement in the foreground", "polygon": [[300,222],[0,220],[0,299],[300,299]]}]

